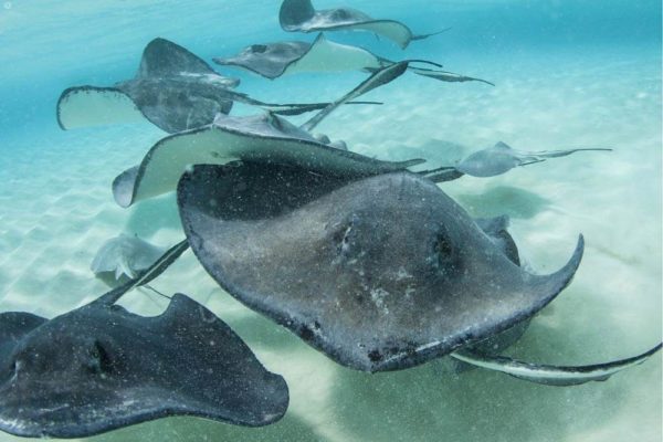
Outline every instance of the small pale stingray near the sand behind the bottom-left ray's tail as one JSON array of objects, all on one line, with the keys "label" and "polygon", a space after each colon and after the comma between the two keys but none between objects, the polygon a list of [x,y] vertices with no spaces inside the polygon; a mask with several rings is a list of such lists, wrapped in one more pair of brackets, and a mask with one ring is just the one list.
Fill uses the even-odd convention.
[{"label": "small pale stingray near the sand behind the bottom-left ray's tail", "polygon": [[134,278],[139,271],[149,269],[164,252],[165,248],[122,233],[102,245],[92,261],[91,270],[96,275],[112,272],[115,280],[119,280],[122,275]]}]

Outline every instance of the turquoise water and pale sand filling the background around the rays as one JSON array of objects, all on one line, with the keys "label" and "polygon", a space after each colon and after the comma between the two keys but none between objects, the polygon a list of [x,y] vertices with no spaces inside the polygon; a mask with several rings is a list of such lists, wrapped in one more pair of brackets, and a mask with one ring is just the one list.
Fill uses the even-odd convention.
[{"label": "turquoise water and pale sand filling the background around the rays", "polygon": [[[661,3],[430,3],[351,2],[415,32],[452,27],[404,52],[369,34],[328,36],[394,60],[439,61],[496,87],[403,76],[367,96],[383,106],[339,109],[320,129],[361,154],[424,157],[432,164],[459,155],[444,150],[441,140],[467,151],[498,140],[523,150],[614,148],[610,155],[569,157],[443,189],[474,215],[509,214],[527,265],[541,273],[566,261],[577,233],[587,238],[573,284],[509,354],[592,364],[660,341]],[[313,40],[283,32],[278,6],[275,0],[0,4],[0,311],[51,317],[103,293],[105,285],[88,265],[98,246],[120,231],[159,244],[181,236],[172,197],[123,210],[109,190],[113,178],[165,134],[147,125],[62,131],[54,115],[62,90],[128,78],[155,36],[207,61],[251,43]],[[269,102],[333,99],[365,77],[299,74],[270,82],[218,71],[241,77],[241,92]],[[291,387],[288,413],[264,429],[176,418],[97,440],[661,440],[660,355],[608,382],[559,389],[481,370],[444,376],[435,362],[366,375],[335,365],[232,301],[191,255],[159,280],[159,288],[204,302],[270,370],[282,373]],[[126,304],[145,313],[164,307],[148,298]],[[6,440],[15,439],[0,434]]]}]

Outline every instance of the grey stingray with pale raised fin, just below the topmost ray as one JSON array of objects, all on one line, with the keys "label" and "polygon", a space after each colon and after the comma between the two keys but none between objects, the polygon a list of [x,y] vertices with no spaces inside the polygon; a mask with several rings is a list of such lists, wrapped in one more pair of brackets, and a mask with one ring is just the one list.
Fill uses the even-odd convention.
[{"label": "grey stingray with pale raised fin, just below the topmost ray", "polygon": [[[373,72],[393,64],[362,48],[332,42],[322,33],[313,44],[302,41],[252,44],[235,56],[213,60],[220,65],[242,67],[270,80],[297,72]],[[477,81],[494,85],[485,80],[446,71],[414,66],[409,66],[409,70],[444,82]]]}]

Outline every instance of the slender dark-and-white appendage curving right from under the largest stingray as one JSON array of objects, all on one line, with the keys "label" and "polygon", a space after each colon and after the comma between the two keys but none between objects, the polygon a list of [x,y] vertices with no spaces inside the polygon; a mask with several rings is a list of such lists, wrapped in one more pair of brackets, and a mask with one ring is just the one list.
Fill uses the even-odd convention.
[{"label": "slender dark-and-white appendage curving right from under the largest stingray", "polygon": [[491,357],[469,351],[456,351],[452,352],[451,356],[463,362],[487,370],[499,371],[530,382],[566,387],[578,386],[590,381],[604,381],[621,370],[644,362],[660,349],[661,344],[642,355],[589,366],[549,366],[529,364],[503,356]]}]

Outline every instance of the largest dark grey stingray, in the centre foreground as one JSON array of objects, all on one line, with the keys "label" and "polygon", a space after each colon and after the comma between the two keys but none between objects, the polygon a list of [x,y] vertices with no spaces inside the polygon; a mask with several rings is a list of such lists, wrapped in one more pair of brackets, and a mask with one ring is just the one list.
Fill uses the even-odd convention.
[{"label": "largest dark grey stingray, in the centre foreground", "polygon": [[[196,166],[178,206],[191,249],[228,293],[336,362],[371,372],[449,354],[483,364],[472,346],[550,303],[583,251],[580,236],[559,271],[530,274],[433,182],[403,171],[344,181],[264,164]],[[612,373],[599,367],[515,375],[572,385]]]}]

